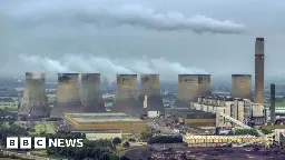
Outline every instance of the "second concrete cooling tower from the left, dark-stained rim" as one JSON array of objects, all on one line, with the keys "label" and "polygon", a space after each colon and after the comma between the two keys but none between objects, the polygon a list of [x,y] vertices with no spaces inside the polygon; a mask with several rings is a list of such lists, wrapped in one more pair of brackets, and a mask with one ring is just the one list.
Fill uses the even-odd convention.
[{"label": "second concrete cooling tower from the left, dark-stained rim", "polygon": [[61,118],[65,112],[83,112],[78,90],[78,73],[58,74],[57,98],[50,116]]}]

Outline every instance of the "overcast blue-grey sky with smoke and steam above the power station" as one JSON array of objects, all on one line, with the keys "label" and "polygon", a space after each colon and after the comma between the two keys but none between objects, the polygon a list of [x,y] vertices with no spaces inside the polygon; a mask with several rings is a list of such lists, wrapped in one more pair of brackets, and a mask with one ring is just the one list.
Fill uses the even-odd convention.
[{"label": "overcast blue-grey sky with smoke and steam above the power station", "polygon": [[284,0],[1,0],[0,72],[285,76]]}]

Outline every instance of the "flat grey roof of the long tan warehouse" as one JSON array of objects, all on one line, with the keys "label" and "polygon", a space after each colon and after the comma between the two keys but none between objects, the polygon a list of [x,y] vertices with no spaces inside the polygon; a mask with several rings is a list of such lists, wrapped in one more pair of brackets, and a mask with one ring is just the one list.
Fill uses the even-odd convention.
[{"label": "flat grey roof of the long tan warehouse", "polygon": [[142,121],[126,113],[66,113],[76,122]]}]

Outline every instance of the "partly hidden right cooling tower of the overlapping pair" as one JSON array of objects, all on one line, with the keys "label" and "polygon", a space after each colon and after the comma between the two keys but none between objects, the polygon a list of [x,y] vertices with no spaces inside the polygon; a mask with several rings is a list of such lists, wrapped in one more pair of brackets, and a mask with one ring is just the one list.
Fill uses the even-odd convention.
[{"label": "partly hidden right cooling tower of the overlapping pair", "polygon": [[[198,74],[198,96],[210,96],[210,74]],[[195,100],[197,101],[197,100]]]}]

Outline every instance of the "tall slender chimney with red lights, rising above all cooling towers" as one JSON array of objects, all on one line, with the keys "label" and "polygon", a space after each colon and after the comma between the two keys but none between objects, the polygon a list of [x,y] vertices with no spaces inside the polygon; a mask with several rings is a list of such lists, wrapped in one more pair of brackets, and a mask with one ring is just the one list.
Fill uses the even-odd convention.
[{"label": "tall slender chimney with red lights, rising above all cooling towers", "polygon": [[264,103],[264,38],[255,41],[255,103]]}]

